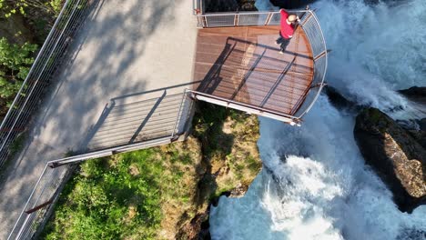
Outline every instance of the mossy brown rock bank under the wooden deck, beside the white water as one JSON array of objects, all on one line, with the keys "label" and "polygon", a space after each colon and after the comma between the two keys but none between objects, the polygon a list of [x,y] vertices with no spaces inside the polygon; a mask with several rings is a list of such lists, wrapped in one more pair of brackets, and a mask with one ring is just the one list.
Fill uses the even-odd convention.
[{"label": "mossy brown rock bank under the wooden deck, beside the white water", "polygon": [[192,135],[198,139],[202,153],[203,173],[193,198],[197,211],[192,217],[183,215],[186,220],[179,223],[177,239],[207,237],[209,205],[216,203],[220,195],[244,195],[262,168],[258,117],[217,105],[200,105],[202,112],[194,117]]}]

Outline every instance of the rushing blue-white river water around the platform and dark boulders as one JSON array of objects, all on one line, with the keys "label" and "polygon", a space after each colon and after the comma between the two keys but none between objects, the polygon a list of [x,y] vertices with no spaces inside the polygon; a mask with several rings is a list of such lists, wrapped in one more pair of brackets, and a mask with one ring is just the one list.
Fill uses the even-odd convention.
[{"label": "rushing blue-white river water around the platform and dark boulders", "polygon": [[[333,50],[330,85],[393,117],[420,117],[394,90],[425,85],[426,1],[323,0],[313,7]],[[423,239],[426,206],[411,215],[398,210],[364,164],[353,125],[354,115],[323,95],[301,127],[261,118],[265,168],[246,196],[221,197],[212,207],[213,239]]]}]

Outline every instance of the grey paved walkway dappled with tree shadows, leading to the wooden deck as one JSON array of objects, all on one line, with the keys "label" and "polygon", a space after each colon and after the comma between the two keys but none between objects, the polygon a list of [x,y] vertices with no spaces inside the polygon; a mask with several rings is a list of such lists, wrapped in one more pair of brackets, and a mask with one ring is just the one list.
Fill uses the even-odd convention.
[{"label": "grey paved walkway dappled with tree shadows, leading to the wooden deck", "polygon": [[[11,239],[35,234],[43,220],[35,215],[42,212],[27,215],[22,210],[42,205],[43,197],[56,193],[50,183],[61,182],[61,175],[51,175],[54,180],[44,175],[37,185],[46,191],[43,197],[37,190],[32,195],[36,201],[25,204],[48,161],[71,151],[86,154],[111,148],[109,152],[116,153],[124,146],[131,150],[164,144],[181,133],[179,125],[174,126],[176,116],[182,114],[184,90],[192,84],[197,37],[191,2],[65,2],[64,14],[47,39],[24,94],[12,107],[11,124],[1,127],[0,156],[8,154],[16,132],[25,130],[26,141],[22,151],[4,165],[0,239],[11,233]],[[169,40],[171,36],[174,41]],[[44,91],[46,83],[48,91]],[[157,106],[156,110],[148,110],[151,106]],[[162,135],[167,135],[167,142]],[[152,143],[153,139],[157,141]],[[0,157],[0,165],[4,159]]]}]

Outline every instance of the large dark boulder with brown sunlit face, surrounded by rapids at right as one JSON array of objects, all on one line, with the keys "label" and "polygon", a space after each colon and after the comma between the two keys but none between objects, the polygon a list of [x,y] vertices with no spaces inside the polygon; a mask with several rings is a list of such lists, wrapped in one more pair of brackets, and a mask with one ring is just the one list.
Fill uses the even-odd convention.
[{"label": "large dark boulder with brown sunlit face, surrounded by rapids at right", "polygon": [[354,136],[366,163],[389,186],[402,212],[425,203],[426,150],[406,130],[370,107],[357,116]]}]

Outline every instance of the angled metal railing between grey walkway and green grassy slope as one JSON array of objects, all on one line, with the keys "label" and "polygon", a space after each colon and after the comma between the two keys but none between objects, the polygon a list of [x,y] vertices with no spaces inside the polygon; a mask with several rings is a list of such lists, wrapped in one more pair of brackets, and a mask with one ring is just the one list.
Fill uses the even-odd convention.
[{"label": "angled metal railing between grey walkway and green grassy slope", "polygon": [[58,195],[66,184],[67,178],[72,175],[77,163],[176,141],[177,136],[188,132],[188,120],[192,115],[193,104],[194,102],[187,91],[184,91],[176,121],[173,121],[174,130],[168,136],[47,162],[7,239],[32,239],[40,234],[46,225],[49,215],[53,212]]}]

